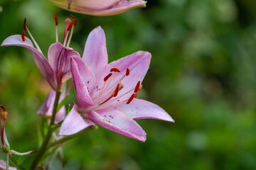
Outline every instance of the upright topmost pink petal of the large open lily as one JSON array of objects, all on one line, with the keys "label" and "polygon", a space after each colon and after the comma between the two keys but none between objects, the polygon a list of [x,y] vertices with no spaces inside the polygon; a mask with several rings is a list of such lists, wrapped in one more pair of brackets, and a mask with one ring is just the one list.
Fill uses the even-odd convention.
[{"label": "upright topmost pink petal of the large open lily", "polygon": [[89,34],[82,59],[95,73],[107,65],[106,38],[104,30],[100,26]]}]

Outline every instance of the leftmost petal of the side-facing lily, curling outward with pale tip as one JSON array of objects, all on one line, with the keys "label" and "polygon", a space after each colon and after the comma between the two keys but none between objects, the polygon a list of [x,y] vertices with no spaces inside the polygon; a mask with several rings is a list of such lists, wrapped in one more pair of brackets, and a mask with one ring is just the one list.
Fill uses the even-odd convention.
[{"label": "leftmost petal of the side-facing lily, curling outward with pale tip", "polygon": [[43,77],[48,81],[50,86],[52,86],[53,89],[57,90],[57,85],[54,80],[54,72],[53,69],[50,67],[50,64],[46,60],[46,57],[43,56],[41,52],[39,52],[36,48],[33,47],[33,43],[31,40],[26,38],[27,41],[23,42],[21,40],[21,35],[11,35],[8,38],[2,42],[2,47],[7,46],[20,46],[20,47],[26,47],[28,50],[31,50],[33,59],[36,62],[36,65],[38,66],[38,69],[43,74]]}]

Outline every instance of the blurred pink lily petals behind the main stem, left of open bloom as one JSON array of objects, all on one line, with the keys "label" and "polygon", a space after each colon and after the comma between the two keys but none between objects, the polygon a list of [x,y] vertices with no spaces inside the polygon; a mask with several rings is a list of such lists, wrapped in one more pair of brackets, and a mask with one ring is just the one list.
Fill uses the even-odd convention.
[{"label": "blurred pink lily petals behind the main stem, left of open bloom", "polygon": [[[39,108],[38,113],[36,115],[41,116],[43,113],[44,116],[51,116],[53,114],[53,105],[55,101],[55,95],[56,92],[54,90],[51,90],[48,96],[46,97],[46,100],[43,102],[42,106]],[[59,103],[63,100],[63,97],[60,97]],[[60,123],[65,118],[65,106],[62,106],[60,108],[60,111],[58,111],[55,115],[54,124]]]}]

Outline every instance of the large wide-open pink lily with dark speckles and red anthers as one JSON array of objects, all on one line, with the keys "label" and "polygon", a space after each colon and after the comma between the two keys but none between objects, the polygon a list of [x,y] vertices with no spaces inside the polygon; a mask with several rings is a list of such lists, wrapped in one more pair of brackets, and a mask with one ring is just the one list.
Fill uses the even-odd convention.
[{"label": "large wide-open pink lily with dark speckles and red anthers", "polygon": [[71,57],[78,102],[60,126],[59,135],[73,135],[95,123],[144,142],[146,132],[135,120],[174,122],[164,109],[135,98],[149,69],[151,54],[139,51],[107,64],[105,33],[97,27],[87,38],[82,58]]}]

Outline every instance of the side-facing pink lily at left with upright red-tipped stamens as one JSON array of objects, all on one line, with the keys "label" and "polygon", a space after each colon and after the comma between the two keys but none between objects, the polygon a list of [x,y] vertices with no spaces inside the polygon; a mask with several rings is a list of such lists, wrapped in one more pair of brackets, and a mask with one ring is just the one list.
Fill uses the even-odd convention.
[{"label": "side-facing pink lily at left with upright red-tipped stamens", "polygon": [[[73,27],[76,24],[75,18],[73,21],[69,20],[65,22],[65,33],[63,38],[63,43],[61,44],[58,42],[58,33],[57,33],[57,26],[58,26],[58,19],[55,15],[55,26],[56,26],[56,42],[50,45],[48,49],[48,60],[44,57],[43,53],[41,52],[40,47],[38,46],[36,40],[34,40],[33,36],[28,30],[26,26],[26,18],[24,20],[23,25],[23,33],[21,35],[11,35],[2,42],[1,46],[20,46],[26,47],[28,50],[31,50],[33,59],[38,66],[38,69],[43,74],[43,77],[48,81],[50,86],[55,91],[60,91],[62,89],[63,83],[71,78],[70,73],[70,57],[80,56],[78,52],[75,52],[72,48],[68,47],[70,45],[70,39],[73,33]],[[25,37],[25,30],[31,36],[31,40],[33,41],[34,45],[31,40]],[[70,32],[70,38],[67,43],[68,33]]]}]

